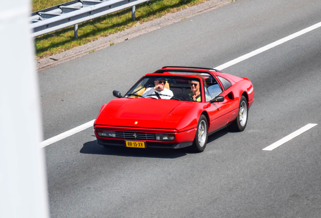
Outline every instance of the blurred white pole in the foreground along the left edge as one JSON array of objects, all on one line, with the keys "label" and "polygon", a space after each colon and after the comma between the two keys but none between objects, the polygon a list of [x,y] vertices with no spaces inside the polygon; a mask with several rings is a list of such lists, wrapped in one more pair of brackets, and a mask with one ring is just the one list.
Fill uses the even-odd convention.
[{"label": "blurred white pole in the foreground along the left edge", "polygon": [[49,217],[31,0],[0,7],[0,217]]}]

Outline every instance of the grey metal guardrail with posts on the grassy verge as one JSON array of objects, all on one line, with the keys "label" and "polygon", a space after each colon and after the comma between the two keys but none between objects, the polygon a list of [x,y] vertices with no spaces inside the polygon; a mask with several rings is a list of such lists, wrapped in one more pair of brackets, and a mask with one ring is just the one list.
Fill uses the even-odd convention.
[{"label": "grey metal guardrail with posts on the grassy verge", "polygon": [[75,25],[75,38],[78,38],[78,24],[132,7],[132,20],[135,20],[135,6],[150,0],[74,0],[31,14],[32,37]]}]

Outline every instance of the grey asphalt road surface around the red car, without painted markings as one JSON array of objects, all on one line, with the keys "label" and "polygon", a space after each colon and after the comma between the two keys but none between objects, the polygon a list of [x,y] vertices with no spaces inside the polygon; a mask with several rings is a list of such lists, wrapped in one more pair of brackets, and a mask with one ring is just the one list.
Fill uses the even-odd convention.
[{"label": "grey asphalt road surface around the red car, without painted markings", "polygon": [[[44,138],[163,66],[216,67],[321,22],[321,2],[240,0],[39,72]],[[202,153],[106,149],[91,128],[45,148],[51,217],[321,217],[321,28],[223,71],[249,78],[244,132]],[[272,151],[262,149],[318,124]]]}]

